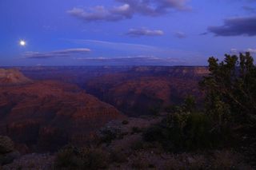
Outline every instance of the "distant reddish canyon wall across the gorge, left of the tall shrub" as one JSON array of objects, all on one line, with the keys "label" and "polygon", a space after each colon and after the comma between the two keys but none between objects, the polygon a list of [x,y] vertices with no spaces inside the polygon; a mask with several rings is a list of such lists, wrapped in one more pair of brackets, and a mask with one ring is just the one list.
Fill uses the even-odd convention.
[{"label": "distant reddish canyon wall across the gorge, left of the tall shrub", "polygon": [[141,66],[95,77],[86,83],[86,88],[126,115],[141,116],[178,105],[188,95],[202,101],[198,80],[207,73],[206,67]]}]

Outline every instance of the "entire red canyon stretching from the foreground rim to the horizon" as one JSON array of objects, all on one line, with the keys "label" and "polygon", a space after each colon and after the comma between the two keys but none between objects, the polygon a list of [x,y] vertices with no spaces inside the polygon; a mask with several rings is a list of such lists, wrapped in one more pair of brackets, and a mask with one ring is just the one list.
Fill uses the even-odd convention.
[{"label": "entire red canyon stretching from the foreground rim to the horizon", "polygon": [[86,144],[113,120],[202,101],[206,67],[91,66],[0,69],[0,135],[22,152]]}]

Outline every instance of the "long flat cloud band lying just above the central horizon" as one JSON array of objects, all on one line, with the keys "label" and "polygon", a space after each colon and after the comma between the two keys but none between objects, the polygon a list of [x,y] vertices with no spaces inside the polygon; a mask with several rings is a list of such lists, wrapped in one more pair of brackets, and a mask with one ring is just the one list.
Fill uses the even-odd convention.
[{"label": "long flat cloud band lying just above the central horizon", "polygon": [[182,65],[185,61],[172,57],[126,56],[126,57],[78,57],[79,61],[99,62],[110,65]]}]

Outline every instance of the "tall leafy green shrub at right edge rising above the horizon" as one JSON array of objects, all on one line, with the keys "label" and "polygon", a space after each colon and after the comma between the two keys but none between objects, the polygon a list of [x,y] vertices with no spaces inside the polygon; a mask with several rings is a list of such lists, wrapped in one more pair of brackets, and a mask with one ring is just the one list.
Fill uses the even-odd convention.
[{"label": "tall leafy green shrub at right edge rising above the horizon", "polygon": [[210,75],[200,82],[206,93],[206,112],[218,125],[234,121],[256,124],[256,66],[250,53],[209,58]]}]

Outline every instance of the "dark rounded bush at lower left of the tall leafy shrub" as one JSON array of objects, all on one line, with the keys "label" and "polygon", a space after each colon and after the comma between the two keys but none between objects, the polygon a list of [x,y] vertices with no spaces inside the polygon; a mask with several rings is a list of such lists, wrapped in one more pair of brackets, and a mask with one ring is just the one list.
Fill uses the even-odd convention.
[{"label": "dark rounded bush at lower left of the tall leafy shrub", "polygon": [[157,141],[171,152],[218,147],[230,137],[228,126],[214,128],[210,115],[196,109],[194,98],[188,97],[181,106],[172,108],[160,124],[143,133],[143,139]]}]

